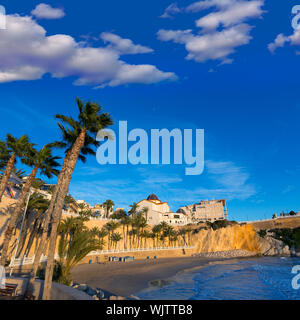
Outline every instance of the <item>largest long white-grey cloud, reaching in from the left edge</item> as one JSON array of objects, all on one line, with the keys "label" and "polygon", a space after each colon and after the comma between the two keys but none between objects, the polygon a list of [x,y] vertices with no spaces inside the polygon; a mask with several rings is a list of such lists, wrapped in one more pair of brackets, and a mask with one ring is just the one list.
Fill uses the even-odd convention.
[{"label": "largest long white-grey cloud, reaching in from the left edge", "polygon": [[69,35],[47,36],[46,30],[29,16],[6,18],[7,30],[0,38],[0,83],[40,79],[46,73],[56,78],[75,76],[76,85],[96,87],[176,79],[174,73],[153,65],[121,60],[123,54],[152,52],[129,39],[104,33],[102,38],[109,41],[108,46],[91,47]]}]

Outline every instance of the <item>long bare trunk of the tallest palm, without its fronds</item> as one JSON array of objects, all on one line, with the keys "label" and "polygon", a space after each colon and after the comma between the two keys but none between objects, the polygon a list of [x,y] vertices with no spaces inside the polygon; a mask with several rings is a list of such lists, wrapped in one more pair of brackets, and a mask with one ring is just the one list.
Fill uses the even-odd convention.
[{"label": "long bare trunk of the tallest palm, without its fronds", "polygon": [[69,190],[72,174],[75,169],[76,162],[80,154],[81,148],[84,145],[85,136],[86,136],[86,130],[82,130],[72,147],[70,158],[67,162],[65,174],[62,181],[62,187],[57,195],[57,202],[55,204],[55,208],[53,211],[53,222],[51,226],[51,234],[50,234],[50,241],[49,241],[43,300],[51,299],[52,275],[53,275],[53,269],[54,269],[54,263],[55,263],[54,258],[55,258],[55,248],[56,248],[57,227],[59,225],[60,218],[62,215],[62,209],[64,206],[65,197]]}]

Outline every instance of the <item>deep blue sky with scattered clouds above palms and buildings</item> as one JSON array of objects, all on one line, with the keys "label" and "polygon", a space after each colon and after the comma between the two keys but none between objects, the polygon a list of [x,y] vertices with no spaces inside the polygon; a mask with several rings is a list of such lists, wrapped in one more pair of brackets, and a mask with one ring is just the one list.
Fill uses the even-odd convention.
[{"label": "deep blue sky with scattered clouds above palms and buildings", "polygon": [[96,100],[129,130],[204,129],[205,170],[90,157],[74,172],[77,199],[127,208],[156,193],[177,210],[226,198],[237,220],[300,210],[298,3],[226,3],[1,1],[0,139],[59,139],[54,115]]}]

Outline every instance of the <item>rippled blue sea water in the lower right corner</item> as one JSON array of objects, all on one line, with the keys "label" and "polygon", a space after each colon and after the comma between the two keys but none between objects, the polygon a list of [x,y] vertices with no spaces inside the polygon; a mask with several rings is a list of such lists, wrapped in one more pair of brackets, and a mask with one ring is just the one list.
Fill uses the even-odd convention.
[{"label": "rippled blue sea water in the lower right corner", "polygon": [[228,260],[154,281],[137,294],[149,300],[300,300],[292,286],[299,258],[262,257]]}]

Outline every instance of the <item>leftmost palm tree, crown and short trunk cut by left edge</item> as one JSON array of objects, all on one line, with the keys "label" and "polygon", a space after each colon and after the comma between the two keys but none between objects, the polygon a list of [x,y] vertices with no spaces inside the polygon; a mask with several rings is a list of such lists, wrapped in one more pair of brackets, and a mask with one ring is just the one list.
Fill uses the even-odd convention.
[{"label": "leftmost palm tree, crown and short trunk cut by left edge", "polygon": [[5,188],[10,178],[10,174],[16,163],[17,157],[21,158],[22,161],[24,154],[32,147],[33,144],[29,142],[29,139],[26,135],[21,136],[19,139],[13,137],[10,134],[6,135],[6,144],[1,144],[1,151],[4,151],[3,154],[1,152],[1,157],[4,160],[6,160],[9,157],[9,160],[6,164],[5,173],[0,183],[0,202],[5,192]]}]

